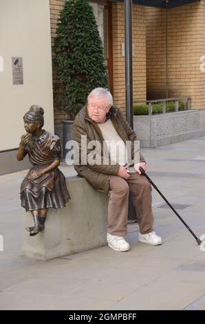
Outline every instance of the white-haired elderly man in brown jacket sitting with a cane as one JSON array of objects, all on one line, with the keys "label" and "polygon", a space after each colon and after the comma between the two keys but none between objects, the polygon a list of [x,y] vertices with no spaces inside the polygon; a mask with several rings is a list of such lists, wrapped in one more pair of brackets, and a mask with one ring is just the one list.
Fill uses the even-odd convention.
[{"label": "white-haired elderly man in brown jacket sitting with a cane", "polygon": [[[83,136],[83,137],[82,137]],[[129,243],[124,237],[127,234],[127,215],[129,190],[132,193],[133,205],[136,208],[139,225],[139,241],[151,245],[160,245],[162,239],[153,232],[153,213],[151,210],[151,185],[141,174],[139,167],[147,170],[146,162],[141,154],[136,161],[136,134],[131,130],[122,116],[120,109],[113,103],[111,93],[104,88],[96,88],[87,97],[87,105],[76,115],[73,126],[73,140],[78,142],[81,156],[82,138],[87,136],[86,154],[94,160],[75,164],[80,176],[83,176],[96,190],[109,192],[107,243],[116,251],[128,251]],[[90,142],[92,141],[92,142]],[[89,143],[100,143],[100,150]],[[127,141],[131,142],[131,159],[123,159],[129,155]],[[106,144],[106,145],[103,145]],[[109,150],[116,151],[112,154]],[[115,147],[116,146],[116,147]],[[109,159],[105,159],[109,152]],[[100,163],[99,163],[100,156]],[[131,165],[127,161],[133,161]],[[106,163],[105,163],[106,162]]]}]

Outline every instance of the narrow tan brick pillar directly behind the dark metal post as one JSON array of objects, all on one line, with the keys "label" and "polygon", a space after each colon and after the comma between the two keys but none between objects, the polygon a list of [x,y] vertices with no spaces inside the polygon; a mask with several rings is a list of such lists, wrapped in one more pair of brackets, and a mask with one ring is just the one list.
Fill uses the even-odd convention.
[{"label": "narrow tan brick pillar directly behind the dark metal post", "polygon": [[[145,7],[133,6],[133,102],[146,100],[146,16]],[[124,5],[112,6],[114,101],[125,112],[125,57],[121,44],[125,43]]]}]

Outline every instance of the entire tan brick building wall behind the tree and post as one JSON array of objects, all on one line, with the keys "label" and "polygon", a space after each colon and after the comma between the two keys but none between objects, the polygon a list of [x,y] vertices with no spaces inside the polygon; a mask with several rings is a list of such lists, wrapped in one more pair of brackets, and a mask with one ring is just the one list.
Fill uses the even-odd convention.
[{"label": "entire tan brick building wall behind the tree and post", "polygon": [[[65,0],[50,0],[52,44]],[[124,6],[112,4],[114,100],[125,112]],[[192,98],[193,108],[205,108],[205,73],[199,70],[205,54],[204,1],[168,11],[168,97]],[[166,97],[166,10],[133,5],[133,101]],[[146,59],[147,57],[147,59]],[[147,70],[146,70],[147,69]],[[66,114],[58,107],[58,79],[53,72],[54,120]]]}]

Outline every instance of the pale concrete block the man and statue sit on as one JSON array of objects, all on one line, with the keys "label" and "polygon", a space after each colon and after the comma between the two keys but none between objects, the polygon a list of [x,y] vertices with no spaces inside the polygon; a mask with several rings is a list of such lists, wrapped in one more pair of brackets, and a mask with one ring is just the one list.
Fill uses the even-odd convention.
[{"label": "pale concrete block the man and statue sit on", "polygon": [[23,213],[22,255],[50,260],[107,245],[107,194],[78,176],[66,179],[72,199],[62,210],[50,209],[45,232],[30,236],[31,212]]}]

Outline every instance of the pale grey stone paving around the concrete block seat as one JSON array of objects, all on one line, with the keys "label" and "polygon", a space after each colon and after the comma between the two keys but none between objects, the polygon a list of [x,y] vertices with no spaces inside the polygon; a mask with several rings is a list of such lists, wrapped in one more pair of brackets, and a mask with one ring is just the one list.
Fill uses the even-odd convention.
[{"label": "pale grey stone paving around the concrete block seat", "polygon": [[[149,176],[177,212],[205,234],[205,138],[143,149]],[[61,166],[66,175],[72,167]],[[131,251],[109,247],[52,261],[21,257],[19,187],[25,172],[0,176],[0,310],[205,310],[205,252],[153,189],[155,231],[163,244],[138,242]],[[205,244],[204,244],[205,245]]]}]

